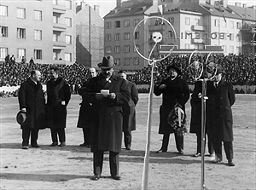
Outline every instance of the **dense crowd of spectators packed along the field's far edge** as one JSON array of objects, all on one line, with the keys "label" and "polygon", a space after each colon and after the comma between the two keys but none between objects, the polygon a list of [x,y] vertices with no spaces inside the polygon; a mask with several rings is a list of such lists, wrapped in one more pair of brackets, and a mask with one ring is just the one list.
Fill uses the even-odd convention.
[{"label": "dense crowd of spectators packed along the field's far edge", "polygon": [[[197,57],[195,59],[205,62],[207,57]],[[209,60],[223,66],[224,78],[233,83],[233,85],[256,85],[256,60],[255,58],[253,60],[253,55],[213,55]],[[171,55],[165,60],[157,62],[156,72],[158,74],[155,74],[155,83],[160,83],[162,79],[167,77],[166,66],[174,62],[181,67],[182,77],[186,79],[189,84],[193,84],[195,81],[191,78],[188,69],[190,64],[189,55]],[[45,84],[49,79],[49,64],[3,62],[0,66],[0,87],[20,85],[20,83],[29,77],[29,73],[32,69],[38,69],[42,73],[41,83]],[[71,85],[73,94],[76,94],[79,85],[82,85],[84,81],[88,79],[88,68],[79,63],[74,63],[73,65],[59,65],[59,67],[61,76],[67,79],[68,83]],[[136,84],[150,84],[150,78],[151,66],[144,67],[135,74],[128,76],[128,80]],[[238,93],[240,93],[240,91],[238,91]],[[141,89],[140,92],[148,92],[148,89]],[[7,96],[16,95],[16,92],[7,94]],[[4,95],[4,92],[0,93],[0,96]]]}]

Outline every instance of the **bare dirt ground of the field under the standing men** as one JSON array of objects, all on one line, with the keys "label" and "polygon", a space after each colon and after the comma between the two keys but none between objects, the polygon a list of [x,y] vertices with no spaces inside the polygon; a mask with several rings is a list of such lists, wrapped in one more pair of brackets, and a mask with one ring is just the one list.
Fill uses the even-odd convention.
[{"label": "bare dirt ground of the field under the standing men", "polygon": [[[91,181],[92,153],[83,142],[82,130],[76,127],[79,95],[73,95],[67,109],[67,147],[49,147],[49,129],[40,130],[40,148],[21,149],[21,130],[15,121],[19,106],[17,98],[1,98],[1,184],[0,189],[141,189],[147,136],[148,94],[140,94],[137,105],[137,130],[132,132],[131,151],[120,153],[121,181],[110,177],[108,153],[104,155],[102,178]],[[205,157],[205,185],[208,189],[256,189],[256,95],[236,95],[234,116],[234,162],[212,164]],[[158,134],[160,97],[154,96],[148,189],[201,189],[201,157],[195,153],[195,134],[184,136],[184,154],[177,154],[174,135],[170,137],[168,153],[160,149]],[[186,105],[190,119],[190,106]],[[124,145],[123,145],[124,147]]]}]

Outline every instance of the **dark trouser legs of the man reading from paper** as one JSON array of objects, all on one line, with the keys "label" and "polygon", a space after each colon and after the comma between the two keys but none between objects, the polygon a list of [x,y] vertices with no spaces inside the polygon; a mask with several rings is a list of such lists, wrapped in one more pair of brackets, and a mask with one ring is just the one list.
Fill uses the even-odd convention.
[{"label": "dark trouser legs of the man reading from paper", "polygon": [[[102,174],[103,155],[103,151],[93,153],[93,173],[95,175]],[[109,151],[109,167],[111,176],[119,174],[119,153]]]}]

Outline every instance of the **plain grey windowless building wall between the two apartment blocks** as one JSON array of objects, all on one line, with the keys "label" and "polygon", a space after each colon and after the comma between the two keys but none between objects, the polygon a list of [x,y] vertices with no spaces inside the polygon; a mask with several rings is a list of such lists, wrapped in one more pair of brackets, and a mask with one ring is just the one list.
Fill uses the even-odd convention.
[{"label": "plain grey windowless building wall between the two apartment blocks", "polygon": [[76,14],[76,60],[84,66],[96,67],[104,55],[104,20],[99,6],[81,2]]}]

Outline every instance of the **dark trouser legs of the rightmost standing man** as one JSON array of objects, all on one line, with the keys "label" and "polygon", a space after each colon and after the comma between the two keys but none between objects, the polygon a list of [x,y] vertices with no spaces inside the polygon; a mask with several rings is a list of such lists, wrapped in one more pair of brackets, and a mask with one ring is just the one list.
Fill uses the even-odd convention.
[{"label": "dark trouser legs of the rightmost standing man", "polygon": [[[222,141],[213,141],[213,148],[215,151],[215,155],[218,158],[222,159]],[[224,151],[226,153],[226,158],[228,160],[233,159],[233,142],[232,141],[224,141]]]}]

